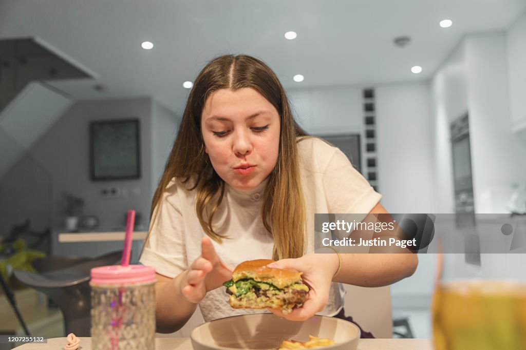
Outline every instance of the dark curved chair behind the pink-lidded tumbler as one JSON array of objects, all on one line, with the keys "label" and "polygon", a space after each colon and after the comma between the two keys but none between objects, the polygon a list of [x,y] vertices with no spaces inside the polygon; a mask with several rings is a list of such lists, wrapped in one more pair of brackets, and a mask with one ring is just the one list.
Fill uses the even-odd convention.
[{"label": "dark curved chair behind the pink-lidded tumbler", "polygon": [[[90,270],[97,266],[117,264],[121,256],[120,251],[95,259],[51,256],[42,258],[41,262],[35,264],[35,269],[39,273],[16,270],[14,274],[20,282],[46,294],[58,305],[64,315],[66,334],[75,333],[77,336],[89,337],[91,328]],[[65,267],[59,268],[61,263]]]}]

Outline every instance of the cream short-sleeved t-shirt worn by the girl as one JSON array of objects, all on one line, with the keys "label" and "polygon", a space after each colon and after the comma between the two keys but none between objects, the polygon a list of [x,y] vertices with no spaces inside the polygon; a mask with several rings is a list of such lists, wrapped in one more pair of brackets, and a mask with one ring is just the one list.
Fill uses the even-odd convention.
[{"label": "cream short-sleeved t-shirt worn by the girl", "polygon": [[[314,251],[315,213],[367,214],[379,202],[366,179],[352,167],[338,148],[317,138],[298,142],[300,174],[306,204],[307,252]],[[222,244],[213,241],[220,259],[232,268],[246,260],[272,259],[274,241],[261,220],[266,181],[251,191],[238,191],[225,184],[225,195],[214,217],[214,228],[226,234]],[[151,233],[140,263],[157,273],[175,277],[201,254],[205,235],[195,212],[197,191],[189,191],[175,179],[167,186],[151,223]],[[365,217],[365,215],[364,215]],[[332,283],[329,301],[321,315],[332,316],[343,307],[345,292]],[[227,316],[261,313],[266,310],[234,309],[224,287],[207,293],[199,303],[205,321]]]}]

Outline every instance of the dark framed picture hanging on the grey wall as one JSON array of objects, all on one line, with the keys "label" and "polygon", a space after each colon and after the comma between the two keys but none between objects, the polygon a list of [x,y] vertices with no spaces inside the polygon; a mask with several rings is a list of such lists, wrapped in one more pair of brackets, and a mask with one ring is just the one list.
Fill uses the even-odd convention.
[{"label": "dark framed picture hanging on the grey wall", "polygon": [[89,125],[90,172],[94,181],[140,178],[139,119]]}]

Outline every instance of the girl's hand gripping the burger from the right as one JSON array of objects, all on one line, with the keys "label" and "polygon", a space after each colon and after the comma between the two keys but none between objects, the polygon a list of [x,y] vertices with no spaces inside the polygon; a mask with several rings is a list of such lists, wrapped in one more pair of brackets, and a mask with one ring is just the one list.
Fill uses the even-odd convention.
[{"label": "girl's hand gripping the burger from the right", "polygon": [[336,254],[309,253],[297,259],[283,259],[267,265],[278,269],[291,267],[303,272],[301,278],[310,288],[307,300],[298,308],[285,315],[279,309],[269,308],[268,310],[280,317],[292,321],[305,321],[317,312],[325,308],[329,300],[329,290],[332,276],[338,269],[338,256]]}]

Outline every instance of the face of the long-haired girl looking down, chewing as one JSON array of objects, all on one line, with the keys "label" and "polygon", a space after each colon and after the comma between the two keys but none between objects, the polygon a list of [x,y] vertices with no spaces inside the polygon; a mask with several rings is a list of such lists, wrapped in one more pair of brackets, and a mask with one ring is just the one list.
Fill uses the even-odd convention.
[{"label": "face of the long-haired girl looking down, chewing", "polygon": [[212,166],[236,190],[252,190],[276,166],[278,111],[258,91],[221,89],[205,101],[201,132]]}]

